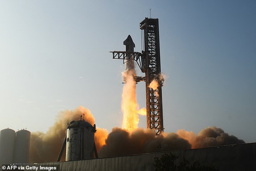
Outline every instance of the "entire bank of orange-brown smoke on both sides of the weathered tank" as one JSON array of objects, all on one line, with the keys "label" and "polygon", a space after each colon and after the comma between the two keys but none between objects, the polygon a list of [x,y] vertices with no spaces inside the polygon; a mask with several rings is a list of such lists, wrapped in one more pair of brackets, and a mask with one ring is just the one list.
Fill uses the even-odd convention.
[{"label": "entire bank of orange-brown smoke on both sides of the weathered tank", "polygon": [[[144,109],[145,111],[145,109]],[[46,134],[32,132],[30,141],[29,163],[43,163],[57,161],[63,140],[66,136],[67,120],[80,119],[84,113],[84,119],[94,124],[94,117],[90,111],[82,106],[74,110],[66,110],[59,113],[55,124],[48,129]],[[221,146],[227,144],[244,143],[233,135],[225,133],[222,129],[208,127],[195,134],[186,130],[178,130],[177,133],[163,132],[155,136],[150,129],[137,128],[132,131],[113,128],[107,135],[107,130],[97,128],[95,144],[99,157],[112,157],[133,155],[147,152],[159,152],[169,150],[181,150],[189,148],[202,148],[208,146]],[[61,161],[65,161],[65,150]]]}]

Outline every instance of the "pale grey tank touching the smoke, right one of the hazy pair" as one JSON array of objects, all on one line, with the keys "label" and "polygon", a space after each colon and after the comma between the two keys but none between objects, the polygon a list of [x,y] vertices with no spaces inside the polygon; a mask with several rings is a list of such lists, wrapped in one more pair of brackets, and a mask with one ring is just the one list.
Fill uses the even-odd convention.
[{"label": "pale grey tank touching the smoke, right one of the hazy pair", "polygon": [[30,132],[24,129],[17,131],[13,151],[13,163],[28,163],[29,144]]}]

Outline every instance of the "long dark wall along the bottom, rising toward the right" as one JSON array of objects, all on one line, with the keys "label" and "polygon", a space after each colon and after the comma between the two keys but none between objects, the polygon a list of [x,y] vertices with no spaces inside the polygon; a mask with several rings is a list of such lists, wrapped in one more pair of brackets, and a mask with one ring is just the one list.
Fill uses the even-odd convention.
[{"label": "long dark wall along the bottom, rising toward the right", "polygon": [[[42,165],[60,165],[60,171],[154,171],[154,157],[161,157],[158,152],[125,157],[111,157],[83,161],[43,163]],[[191,163],[196,159],[202,165],[215,165],[219,171],[256,171],[256,142],[230,146],[198,148],[172,151]]]}]

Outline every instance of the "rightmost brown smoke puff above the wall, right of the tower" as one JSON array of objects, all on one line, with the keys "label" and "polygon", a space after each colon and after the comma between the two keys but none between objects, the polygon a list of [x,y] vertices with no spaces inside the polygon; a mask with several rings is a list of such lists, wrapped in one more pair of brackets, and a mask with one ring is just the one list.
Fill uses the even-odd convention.
[{"label": "rightmost brown smoke puff above the wall, right of the tower", "polygon": [[214,126],[201,130],[198,135],[186,130],[178,130],[177,134],[188,140],[192,148],[245,143],[243,140],[239,140],[237,137],[225,133],[221,128]]}]

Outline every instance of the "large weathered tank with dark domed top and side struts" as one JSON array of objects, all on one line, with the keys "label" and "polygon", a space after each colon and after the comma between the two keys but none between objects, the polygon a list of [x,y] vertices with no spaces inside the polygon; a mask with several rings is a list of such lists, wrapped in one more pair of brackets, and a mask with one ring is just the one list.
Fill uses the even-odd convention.
[{"label": "large weathered tank with dark domed top and side struts", "polygon": [[96,126],[84,120],[72,121],[67,126],[66,161],[93,159]]}]

